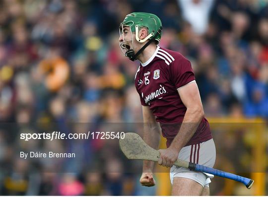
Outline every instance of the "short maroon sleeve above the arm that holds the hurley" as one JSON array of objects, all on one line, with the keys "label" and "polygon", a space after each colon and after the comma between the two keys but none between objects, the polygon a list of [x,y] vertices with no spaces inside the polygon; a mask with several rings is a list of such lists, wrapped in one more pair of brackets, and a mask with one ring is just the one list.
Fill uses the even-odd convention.
[{"label": "short maroon sleeve above the arm that holds the hurley", "polygon": [[182,57],[177,61],[175,60],[170,66],[170,79],[176,89],[195,80],[191,63],[186,58]]}]

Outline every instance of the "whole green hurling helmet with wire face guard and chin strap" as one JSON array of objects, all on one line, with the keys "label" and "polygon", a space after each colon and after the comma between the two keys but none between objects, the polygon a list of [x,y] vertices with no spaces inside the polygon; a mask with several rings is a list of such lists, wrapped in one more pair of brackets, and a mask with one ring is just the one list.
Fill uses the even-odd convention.
[{"label": "whole green hurling helmet with wire face guard and chin strap", "polygon": [[[124,37],[124,28],[129,28],[131,33],[131,40],[125,40]],[[148,30],[148,36],[144,39],[138,38],[138,31],[140,28],[145,27]],[[161,20],[154,14],[144,13],[144,12],[134,12],[128,14],[124,21],[120,24],[119,27],[120,36],[123,36],[123,42],[120,42],[120,49],[122,53],[127,56],[130,60],[135,61],[136,57],[153,41],[156,43],[160,42],[162,34],[162,23]],[[137,53],[134,53],[134,38],[133,34],[135,33],[135,39],[139,43],[144,43],[149,40]],[[132,43],[132,46],[130,46]]]}]

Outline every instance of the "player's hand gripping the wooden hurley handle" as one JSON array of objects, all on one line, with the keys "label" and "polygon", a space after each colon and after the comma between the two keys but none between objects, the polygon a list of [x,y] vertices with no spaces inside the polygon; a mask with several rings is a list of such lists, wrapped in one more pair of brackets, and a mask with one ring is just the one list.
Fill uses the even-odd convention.
[{"label": "player's hand gripping the wooden hurley handle", "polygon": [[174,162],[178,159],[179,152],[171,147],[167,149],[159,149],[160,157],[158,159],[158,164],[165,167],[172,167]]}]

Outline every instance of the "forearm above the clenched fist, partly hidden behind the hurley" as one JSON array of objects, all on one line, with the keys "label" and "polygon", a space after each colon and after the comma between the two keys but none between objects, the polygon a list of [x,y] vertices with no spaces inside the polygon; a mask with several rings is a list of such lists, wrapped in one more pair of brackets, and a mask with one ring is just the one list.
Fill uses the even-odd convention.
[{"label": "forearm above the clenched fist, partly hidden behind the hurley", "polygon": [[[160,134],[159,127],[156,123],[144,123],[143,140],[154,149],[158,149]],[[142,172],[152,172],[153,166],[153,161],[144,160]]]}]

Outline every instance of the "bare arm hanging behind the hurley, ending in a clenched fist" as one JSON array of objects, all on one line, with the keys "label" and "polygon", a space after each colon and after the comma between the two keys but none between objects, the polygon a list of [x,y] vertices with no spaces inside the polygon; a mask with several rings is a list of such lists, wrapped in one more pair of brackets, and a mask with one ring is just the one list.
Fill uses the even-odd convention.
[{"label": "bare arm hanging behind the hurley, ending in a clenched fist", "polygon": [[[152,148],[158,149],[160,141],[160,130],[159,125],[155,121],[155,116],[152,114],[148,106],[142,106],[143,115],[143,140]],[[142,175],[140,178],[140,183],[143,186],[154,186],[155,181],[152,176],[154,162],[153,161],[143,161]]]}]

